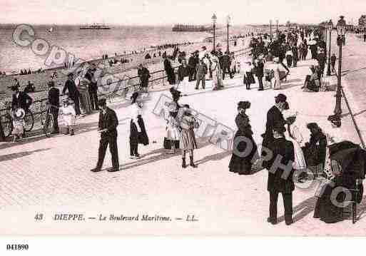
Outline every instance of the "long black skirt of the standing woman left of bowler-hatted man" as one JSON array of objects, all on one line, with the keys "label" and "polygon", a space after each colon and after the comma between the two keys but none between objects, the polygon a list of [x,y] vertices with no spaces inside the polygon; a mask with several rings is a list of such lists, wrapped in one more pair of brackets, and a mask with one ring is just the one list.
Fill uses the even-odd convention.
[{"label": "long black skirt of the standing woman left of bowler-hatted man", "polygon": [[[255,144],[255,141],[253,139],[252,135],[244,135],[243,133],[238,130],[238,132],[235,134],[235,139],[238,137],[245,136],[250,140],[250,143],[248,141],[240,141],[236,145],[236,148],[233,148],[233,155],[231,156],[231,160],[229,163],[229,170],[233,173],[238,173],[240,175],[246,175],[250,174],[250,170],[252,169],[252,165],[255,162],[255,157],[258,157],[258,148]],[[251,145],[250,145],[251,144]],[[234,144],[235,147],[235,144]],[[249,147],[249,148],[248,148]],[[251,148],[251,150],[250,150]],[[246,150],[250,150],[248,153]],[[243,154],[243,155],[240,155]]]}]

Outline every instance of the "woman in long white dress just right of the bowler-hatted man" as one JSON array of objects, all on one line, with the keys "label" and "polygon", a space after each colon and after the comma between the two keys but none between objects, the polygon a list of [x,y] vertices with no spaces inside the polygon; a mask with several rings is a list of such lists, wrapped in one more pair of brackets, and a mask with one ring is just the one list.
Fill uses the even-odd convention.
[{"label": "woman in long white dress just right of the bowler-hatted man", "polygon": [[290,140],[293,143],[293,147],[295,150],[295,162],[293,168],[295,170],[305,170],[306,162],[303,150],[301,149],[301,143],[303,142],[303,135],[301,135],[298,126],[295,126],[296,115],[290,115],[286,118],[288,129],[285,133],[285,137],[287,140]]}]

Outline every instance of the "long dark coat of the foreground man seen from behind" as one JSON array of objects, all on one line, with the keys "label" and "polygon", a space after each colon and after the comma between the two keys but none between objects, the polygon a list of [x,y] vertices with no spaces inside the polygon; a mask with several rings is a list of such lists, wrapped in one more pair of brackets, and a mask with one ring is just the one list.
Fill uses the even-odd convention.
[{"label": "long dark coat of the foreground man seen from behind", "polygon": [[[275,138],[271,146],[273,152],[273,158],[268,161],[272,166],[275,163],[275,159],[280,155],[282,157],[281,162],[283,165],[287,165],[289,161],[295,160],[295,150],[293,143],[285,138]],[[289,173],[285,173],[285,170],[277,168],[277,170],[270,170],[268,172],[268,185],[267,190],[280,193],[291,193],[295,189],[293,183],[293,169]]]}]

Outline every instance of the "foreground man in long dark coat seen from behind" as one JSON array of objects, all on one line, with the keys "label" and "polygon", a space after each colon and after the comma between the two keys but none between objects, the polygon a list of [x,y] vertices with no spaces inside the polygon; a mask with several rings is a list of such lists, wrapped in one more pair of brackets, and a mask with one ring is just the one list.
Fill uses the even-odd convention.
[{"label": "foreground man in long dark coat seen from behind", "polygon": [[273,158],[268,162],[268,185],[270,193],[270,217],[268,222],[277,223],[277,202],[278,194],[282,193],[283,205],[285,206],[286,225],[293,223],[293,162],[295,161],[295,150],[293,143],[285,139],[286,128],[283,125],[276,125],[273,128],[272,152]]}]

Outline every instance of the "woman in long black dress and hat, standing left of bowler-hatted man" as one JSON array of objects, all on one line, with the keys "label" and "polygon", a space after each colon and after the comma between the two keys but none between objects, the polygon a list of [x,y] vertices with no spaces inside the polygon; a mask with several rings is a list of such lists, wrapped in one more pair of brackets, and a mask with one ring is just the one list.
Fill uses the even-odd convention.
[{"label": "woman in long black dress and hat, standing left of bowler-hatted man", "polygon": [[253,139],[253,131],[245,111],[250,108],[249,101],[238,103],[238,116],[235,118],[238,131],[233,142],[233,156],[231,157],[229,170],[239,175],[248,175],[253,164],[253,157],[258,156],[257,145]]}]

